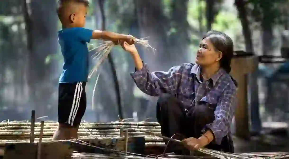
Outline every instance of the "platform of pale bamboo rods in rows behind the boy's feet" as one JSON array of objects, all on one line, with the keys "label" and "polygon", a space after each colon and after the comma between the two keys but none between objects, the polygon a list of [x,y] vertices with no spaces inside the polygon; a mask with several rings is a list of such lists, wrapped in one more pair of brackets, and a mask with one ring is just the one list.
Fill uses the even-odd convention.
[{"label": "platform of pale bamboo rods in rows behind the boy's feet", "polygon": [[[28,121],[10,121],[0,123],[0,145],[13,142],[29,142],[31,123]],[[43,129],[43,142],[50,141],[58,128],[58,122],[45,121]],[[129,137],[144,137],[147,146],[163,146],[162,138],[148,135],[143,131],[160,134],[160,124],[156,122],[111,122],[111,123],[81,123],[79,126],[79,139],[88,141],[95,138],[118,138],[120,128],[128,130]],[[39,140],[40,122],[34,127],[35,142]]]}]

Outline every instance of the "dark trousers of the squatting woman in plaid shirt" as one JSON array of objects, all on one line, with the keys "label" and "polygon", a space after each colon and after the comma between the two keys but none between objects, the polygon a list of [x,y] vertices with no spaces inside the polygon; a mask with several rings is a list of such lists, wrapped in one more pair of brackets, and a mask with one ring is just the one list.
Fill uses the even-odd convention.
[{"label": "dark trousers of the squatting woman in plaid shirt", "polygon": [[[162,136],[171,138],[174,134],[181,134],[175,135],[174,139],[182,140],[189,137],[199,138],[203,134],[201,130],[206,124],[212,123],[215,116],[214,109],[204,105],[195,106],[186,112],[176,97],[163,94],[157,103],[157,119],[161,125]],[[167,140],[164,142],[168,143]],[[223,138],[221,145],[210,143],[205,148],[234,152],[230,135]]]}]

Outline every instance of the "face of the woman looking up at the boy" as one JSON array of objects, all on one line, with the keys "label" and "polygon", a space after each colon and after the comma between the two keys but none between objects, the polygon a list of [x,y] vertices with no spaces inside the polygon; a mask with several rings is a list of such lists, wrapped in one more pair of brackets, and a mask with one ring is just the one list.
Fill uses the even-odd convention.
[{"label": "face of the woman looking up at the boy", "polygon": [[197,52],[196,63],[200,66],[208,66],[217,63],[222,58],[222,53],[216,51],[209,38],[204,38]]}]

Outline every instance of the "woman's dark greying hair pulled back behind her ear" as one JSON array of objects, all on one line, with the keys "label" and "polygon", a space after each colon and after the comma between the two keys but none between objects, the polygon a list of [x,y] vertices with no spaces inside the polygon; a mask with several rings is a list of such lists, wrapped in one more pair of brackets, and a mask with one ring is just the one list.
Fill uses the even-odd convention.
[{"label": "woman's dark greying hair pulled back behind her ear", "polygon": [[208,38],[216,51],[222,52],[220,67],[227,73],[231,72],[231,59],[234,56],[234,44],[232,39],[225,33],[215,30],[207,32],[203,39]]}]

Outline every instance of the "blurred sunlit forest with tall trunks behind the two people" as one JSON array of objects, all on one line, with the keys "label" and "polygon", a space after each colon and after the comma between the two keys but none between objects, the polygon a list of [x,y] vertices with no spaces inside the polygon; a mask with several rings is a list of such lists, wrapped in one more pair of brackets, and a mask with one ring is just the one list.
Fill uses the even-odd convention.
[{"label": "blurred sunlit forest with tall trunks behind the two people", "polygon": [[[151,71],[194,62],[203,34],[211,29],[228,34],[235,50],[281,56],[282,35],[288,29],[287,0],[105,0],[103,6],[98,2],[90,0],[86,28],[101,30],[105,21],[108,31],[149,37],[155,52],[136,45]],[[36,110],[37,117],[57,120],[58,79],[63,64],[57,41],[61,29],[57,1],[0,3],[0,120],[28,120],[31,110]],[[89,49],[100,43],[92,40]],[[111,55],[113,67],[106,59],[97,72],[101,74],[94,97],[97,74],[89,79],[83,120],[116,121],[121,106],[124,118],[155,121],[157,98],[135,86],[129,75],[134,71],[132,58],[119,46]],[[258,107],[263,126],[282,122],[279,124],[286,127],[289,121],[288,80],[276,82],[273,78],[283,65],[260,63],[254,76],[258,85],[249,86],[248,103]]]}]

